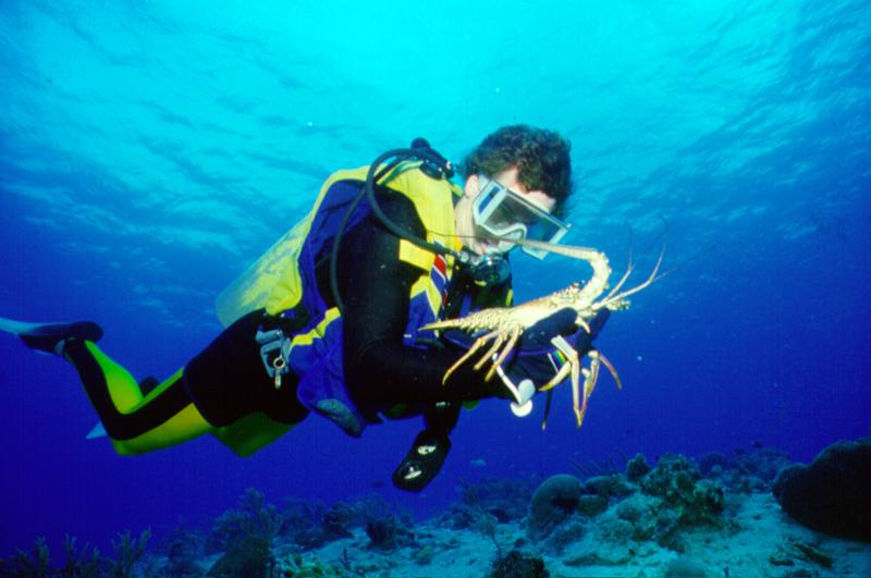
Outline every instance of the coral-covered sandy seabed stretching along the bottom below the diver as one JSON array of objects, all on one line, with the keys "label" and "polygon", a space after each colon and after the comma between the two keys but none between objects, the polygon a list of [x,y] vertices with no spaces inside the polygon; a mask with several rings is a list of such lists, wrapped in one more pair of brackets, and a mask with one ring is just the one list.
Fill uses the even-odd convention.
[{"label": "coral-covered sandy seabed stretching along the bottom below the diver", "polygon": [[[839,444],[814,464],[855,474],[857,446],[868,447]],[[637,454],[625,474],[593,464],[585,479],[557,475],[538,487],[537,477],[464,483],[447,512],[422,522],[381,497],[287,500],[278,509],[247,490],[210,531],[176,528],[148,555],[147,532],[119,534],[116,559],[68,539],[62,565],[37,540],[0,561],[0,576],[871,576],[870,545],[782,514],[766,485],[783,454],[757,450],[707,454],[699,466],[666,454],[651,467]],[[777,491],[812,467],[787,468]]]}]

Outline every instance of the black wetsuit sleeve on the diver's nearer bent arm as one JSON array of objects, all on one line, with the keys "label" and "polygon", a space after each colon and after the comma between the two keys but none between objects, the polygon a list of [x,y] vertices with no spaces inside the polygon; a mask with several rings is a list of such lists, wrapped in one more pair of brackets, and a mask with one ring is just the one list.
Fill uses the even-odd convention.
[{"label": "black wetsuit sleeve on the diver's nearer bent arm", "polygon": [[[424,236],[412,202],[392,194],[382,209],[401,226]],[[484,382],[466,364],[442,377],[464,353],[403,344],[412,285],[421,270],[400,261],[400,239],[368,218],[343,242],[340,292],[345,303],[345,377],[352,396],[367,404],[470,401],[499,395],[499,380]]]}]

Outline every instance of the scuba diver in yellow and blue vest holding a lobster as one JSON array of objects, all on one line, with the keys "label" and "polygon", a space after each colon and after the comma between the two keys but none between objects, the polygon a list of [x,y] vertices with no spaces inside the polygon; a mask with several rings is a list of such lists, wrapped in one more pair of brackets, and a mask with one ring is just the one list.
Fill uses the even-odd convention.
[{"label": "scuba diver in yellow and blue vest holding a lobster", "polygon": [[225,329],[162,382],[137,383],[97,346],[102,330],[89,321],[0,318],[0,329],[75,367],[120,454],[210,433],[245,456],[310,411],[352,436],[422,416],[392,476],[397,488],[420,491],[441,469],[464,405],[495,397],[528,413],[536,384],[563,362],[549,340],[563,335],[582,356],[608,317],[601,311],[588,333],[573,311],[554,313],[524,333],[499,379],[464,364],[442,383],[474,340],[420,328],[512,305],[513,241],[559,243],[569,226],[561,219],[569,144],[559,134],[502,127],[462,170],[459,187],[451,163],[416,139],[331,175],[309,214],[218,297]]}]

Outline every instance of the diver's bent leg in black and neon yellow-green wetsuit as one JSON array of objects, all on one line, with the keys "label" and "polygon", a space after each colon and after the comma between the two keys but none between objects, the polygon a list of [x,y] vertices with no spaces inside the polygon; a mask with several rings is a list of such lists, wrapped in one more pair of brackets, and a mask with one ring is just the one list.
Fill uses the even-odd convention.
[{"label": "diver's bent leg in black and neon yellow-green wetsuit", "polygon": [[255,335],[283,320],[254,311],[221,332],[206,349],[146,395],[133,376],[91,341],[66,339],[64,357],[78,371],[103,428],[121,454],[175,445],[262,411],[291,425],[308,414],[296,398],[297,379],[277,390]]}]

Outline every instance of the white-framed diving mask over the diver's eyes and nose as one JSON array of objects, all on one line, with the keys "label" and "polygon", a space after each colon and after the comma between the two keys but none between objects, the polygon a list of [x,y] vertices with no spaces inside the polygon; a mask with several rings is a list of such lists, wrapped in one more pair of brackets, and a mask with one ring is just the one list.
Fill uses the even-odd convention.
[{"label": "white-framed diving mask over the diver's eyes and nose", "polygon": [[[499,241],[498,250],[507,253],[516,243],[529,238],[556,244],[571,226],[538,205],[503,186],[493,179],[479,175],[480,192],[471,202],[475,224]],[[522,246],[523,250],[537,259],[543,259],[547,250]]]}]

